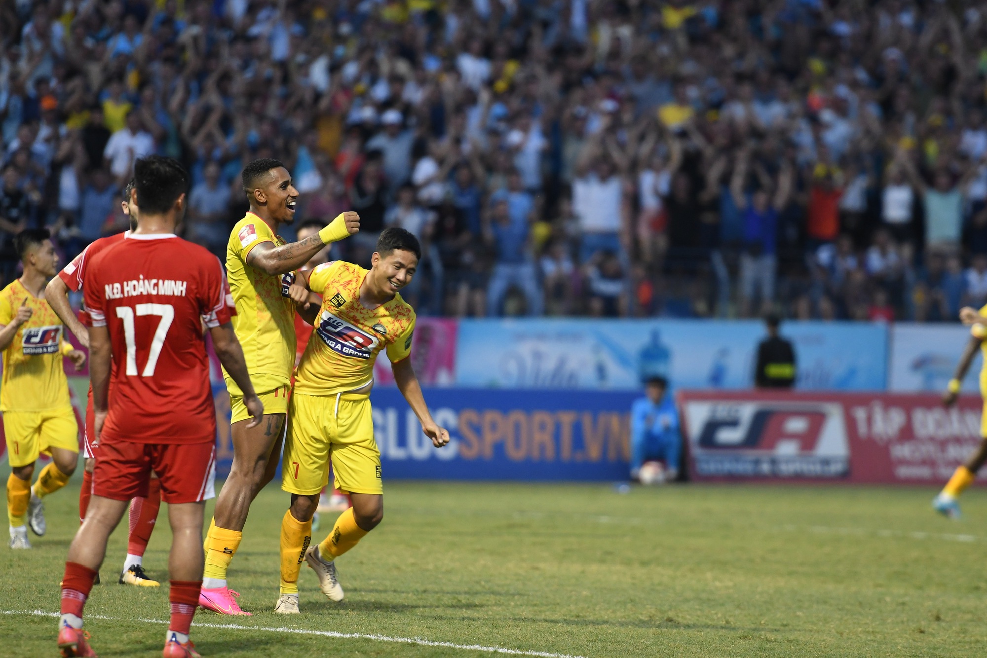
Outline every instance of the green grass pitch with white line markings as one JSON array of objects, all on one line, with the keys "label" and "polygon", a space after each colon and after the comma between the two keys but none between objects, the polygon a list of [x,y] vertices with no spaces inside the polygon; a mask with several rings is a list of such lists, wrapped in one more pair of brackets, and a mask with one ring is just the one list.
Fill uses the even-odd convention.
[{"label": "green grass pitch with white line markings", "polygon": [[[230,571],[252,618],[197,622],[424,638],[572,656],[958,656],[987,651],[987,492],[950,522],[929,489],[390,482],[384,523],[340,559],[346,600],[302,568],[302,614],[272,612],[287,495],[251,511]],[[0,655],[52,656],[78,489],[47,500],[35,549],[0,548]],[[145,567],[166,577],[162,516]],[[211,506],[207,511],[211,511]],[[208,515],[206,516],[208,519]],[[332,525],[322,519],[321,540]],[[125,520],[87,628],[101,656],[160,655],[167,588],[115,583]],[[96,619],[103,616],[108,619]],[[203,656],[491,656],[457,646],[193,627]]]}]

